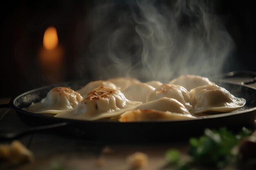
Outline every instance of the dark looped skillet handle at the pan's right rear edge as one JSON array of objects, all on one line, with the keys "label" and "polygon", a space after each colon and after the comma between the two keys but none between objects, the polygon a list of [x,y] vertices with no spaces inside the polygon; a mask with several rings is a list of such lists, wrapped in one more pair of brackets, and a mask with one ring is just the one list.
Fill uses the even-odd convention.
[{"label": "dark looped skillet handle at the pan's right rear edge", "polygon": [[231,71],[221,75],[222,78],[232,78],[232,77],[250,77],[251,79],[240,82],[240,84],[253,84],[256,82],[256,72],[253,71]]}]

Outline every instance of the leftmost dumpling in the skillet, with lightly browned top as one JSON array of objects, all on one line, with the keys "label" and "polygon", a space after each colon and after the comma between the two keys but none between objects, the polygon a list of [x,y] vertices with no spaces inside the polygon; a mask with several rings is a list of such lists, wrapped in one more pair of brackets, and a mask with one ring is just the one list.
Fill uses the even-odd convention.
[{"label": "leftmost dumpling in the skillet, with lightly browned top", "polygon": [[73,110],[83,97],[66,87],[55,87],[38,103],[32,103],[27,110],[33,113],[60,113],[61,110]]}]

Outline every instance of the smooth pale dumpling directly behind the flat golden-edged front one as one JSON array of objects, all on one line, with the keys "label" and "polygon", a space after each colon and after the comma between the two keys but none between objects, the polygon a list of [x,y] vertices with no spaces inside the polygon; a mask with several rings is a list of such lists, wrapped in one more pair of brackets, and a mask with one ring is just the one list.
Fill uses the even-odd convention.
[{"label": "smooth pale dumpling directly behind the flat golden-edged front one", "polygon": [[168,97],[162,97],[160,99],[141,104],[137,106],[136,109],[154,109],[163,112],[169,111],[173,113],[190,115],[189,110],[185,108],[182,103],[178,102],[176,99],[171,99]]}]

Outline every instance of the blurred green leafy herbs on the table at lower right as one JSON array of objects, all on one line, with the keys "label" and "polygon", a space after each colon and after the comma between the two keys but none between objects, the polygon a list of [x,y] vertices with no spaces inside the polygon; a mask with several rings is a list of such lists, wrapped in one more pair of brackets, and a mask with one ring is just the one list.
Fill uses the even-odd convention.
[{"label": "blurred green leafy herbs on the table at lower right", "polygon": [[[188,154],[191,156],[191,161],[183,162],[185,165],[183,168],[189,169],[188,166],[194,165],[223,168],[228,163],[236,161],[238,152],[235,151],[235,148],[242,139],[251,134],[252,131],[247,128],[242,128],[237,134],[227,130],[227,128],[205,129],[204,135],[201,137],[189,139]],[[168,150],[166,159],[175,162],[177,155],[179,155],[177,152]],[[183,169],[180,165],[181,163],[177,164],[177,169]]]}]

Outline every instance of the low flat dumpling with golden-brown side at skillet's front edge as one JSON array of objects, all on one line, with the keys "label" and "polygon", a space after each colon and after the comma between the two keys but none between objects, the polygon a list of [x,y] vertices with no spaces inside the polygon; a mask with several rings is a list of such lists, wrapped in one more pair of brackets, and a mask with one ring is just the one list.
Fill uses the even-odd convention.
[{"label": "low flat dumpling with golden-brown side at skillet's front edge", "polygon": [[157,110],[130,110],[120,115],[120,122],[151,121],[151,120],[184,120],[195,119],[192,115],[181,113],[162,112]]}]

